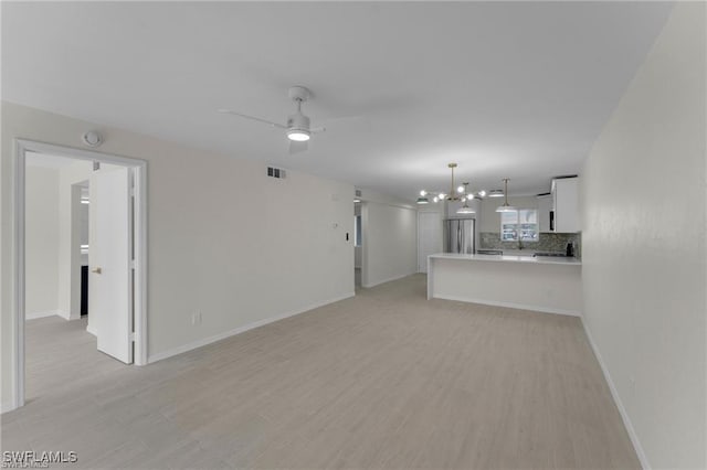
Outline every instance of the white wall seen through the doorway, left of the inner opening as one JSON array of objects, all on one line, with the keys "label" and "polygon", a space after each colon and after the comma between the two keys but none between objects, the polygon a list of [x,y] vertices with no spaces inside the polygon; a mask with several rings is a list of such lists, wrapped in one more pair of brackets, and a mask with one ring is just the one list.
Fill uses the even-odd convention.
[{"label": "white wall seen through the doorway, left of the inner opening", "polygon": [[59,310],[59,169],[28,167],[25,174],[25,311],[32,318]]}]

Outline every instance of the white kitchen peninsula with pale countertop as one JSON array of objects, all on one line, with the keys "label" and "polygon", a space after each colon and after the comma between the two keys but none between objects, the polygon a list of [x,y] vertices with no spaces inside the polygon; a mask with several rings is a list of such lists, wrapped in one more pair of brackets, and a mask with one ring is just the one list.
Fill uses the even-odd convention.
[{"label": "white kitchen peninsula with pale countertop", "polygon": [[581,261],[544,256],[437,254],[428,257],[428,299],[579,316]]}]

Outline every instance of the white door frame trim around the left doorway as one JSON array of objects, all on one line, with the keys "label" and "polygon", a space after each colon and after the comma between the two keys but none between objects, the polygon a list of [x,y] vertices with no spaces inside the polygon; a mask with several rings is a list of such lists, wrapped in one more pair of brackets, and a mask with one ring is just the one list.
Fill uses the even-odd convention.
[{"label": "white door frame trim around the left doorway", "polygon": [[[25,254],[24,254],[24,211],[25,211],[25,153],[49,153],[80,160],[98,161],[129,167],[135,181],[135,216],[133,233],[135,236],[135,286],[134,286],[134,329],[135,365],[147,364],[147,161],[102,153],[92,150],[74,149],[52,143],[14,139],[14,357],[12,361],[12,381],[14,396],[12,409],[24,406],[24,316],[25,316]],[[3,409],[4,412],[4,409]]]}]

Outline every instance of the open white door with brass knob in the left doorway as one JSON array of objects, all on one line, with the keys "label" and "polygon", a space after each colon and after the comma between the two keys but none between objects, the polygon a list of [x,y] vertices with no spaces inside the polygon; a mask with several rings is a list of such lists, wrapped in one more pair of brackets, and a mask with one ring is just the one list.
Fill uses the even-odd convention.
[{"label": "open white door with brass knob in the left doorway", "polygon": [[130,170],[112,168],[91,178],[88,316],[98,351],[133,363],[133,217]]}]

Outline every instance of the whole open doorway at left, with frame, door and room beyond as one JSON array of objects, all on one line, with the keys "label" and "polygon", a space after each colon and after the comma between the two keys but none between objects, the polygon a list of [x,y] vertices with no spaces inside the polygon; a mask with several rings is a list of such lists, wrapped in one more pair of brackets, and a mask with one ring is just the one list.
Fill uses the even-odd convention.
[{"label": "whole open doorway at left, with frame, door and room beyond", "polygon": [[[72,153],[76,153],[74,157]],[[139,160],[19,142],[17,406],[146,361]]]}]

